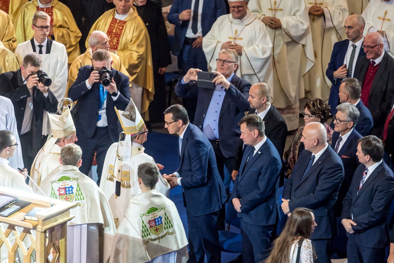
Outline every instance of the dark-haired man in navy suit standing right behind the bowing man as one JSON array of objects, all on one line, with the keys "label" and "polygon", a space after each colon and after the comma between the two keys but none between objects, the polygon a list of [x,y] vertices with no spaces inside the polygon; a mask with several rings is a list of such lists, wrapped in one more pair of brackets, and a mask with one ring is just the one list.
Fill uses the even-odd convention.
[{"label": "dark-haired man in navy suit standing right behind the bowing man", "polygon": [[243,262],[262,262],[271,247],[276,222],[276,191],[282,160],[264,135],[264,122],[255,114],[240,122],[241,139],[248,145],[230,201],[241,218]]}]

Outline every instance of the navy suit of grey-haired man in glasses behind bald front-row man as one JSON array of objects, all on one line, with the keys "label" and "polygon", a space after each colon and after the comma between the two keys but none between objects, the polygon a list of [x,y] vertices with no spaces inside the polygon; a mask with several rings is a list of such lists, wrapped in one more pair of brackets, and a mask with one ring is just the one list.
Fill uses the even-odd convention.
[{"label": "navy suit of grey-haired man in glasses behind bald front-row man", "polygon": [[[331,147],[335,150],[336,142],[339,138],[339,132],[333,133]],[[342,201],[346,196],[346,193],[349,190],[351,179],[353,178],[354,171],[357,166],[359,166],[359,158],[356,155],[357,146],[359,143],[357,141],[362,138],[361,134],[358,133],[355,129],[351,131],[348,139],[344,142],[344,145],[338,151],[338,156],[341,158],[342,163],[344,165],[345,177],[342,181],[341,188],[339,188],[338,192],[338,201],[336,201],[336,214],[340,216],[342,212]]]}]

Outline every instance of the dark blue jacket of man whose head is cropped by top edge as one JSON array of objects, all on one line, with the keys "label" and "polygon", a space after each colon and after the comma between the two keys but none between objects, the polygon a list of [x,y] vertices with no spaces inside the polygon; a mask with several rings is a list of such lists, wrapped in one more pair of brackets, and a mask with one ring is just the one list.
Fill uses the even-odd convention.
[{"label": "dark blue jacket of man whose head is cropped by top edge", "polygon": [[[169,23],[175,24],[174,42],[171,50],[175,56],[178,56],[182,50],[186,30],[189,26],[189,20],[179,20],[179,14],[186,9],[191,9],[191,0],[174,0],[167,15]],[[211,30],[216,19],[225,14],[226,6],[223,0],[204,0],[203,10],[201,12],[201,29],[203,36]]]}]

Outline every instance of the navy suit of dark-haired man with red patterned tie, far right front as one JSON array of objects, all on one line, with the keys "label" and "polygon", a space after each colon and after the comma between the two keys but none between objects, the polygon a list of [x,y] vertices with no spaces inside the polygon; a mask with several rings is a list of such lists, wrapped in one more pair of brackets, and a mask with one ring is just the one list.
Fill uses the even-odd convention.
[{"label": "navy suit of dark-haired man with red patterned tie, far right front", "polygon": [[385,262],[388,244],[387,215],[394,197],[394,178],[391,169],[382,162],[359,184],[366,166],[357,167],[343,202],[342,218],[352,219],[353,234],[348,235],[348,262]]}]

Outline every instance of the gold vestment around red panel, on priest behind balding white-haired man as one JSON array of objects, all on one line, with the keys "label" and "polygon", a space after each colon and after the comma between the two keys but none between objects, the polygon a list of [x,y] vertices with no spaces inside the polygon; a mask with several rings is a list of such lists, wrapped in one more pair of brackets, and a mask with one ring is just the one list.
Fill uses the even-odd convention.
[{"label": "gold vestment around red panel, on priest behind balding white-haired man", "polygon": [[[93,24],[89,36],[94,30],[108,32],[114,16],[115,8],[106,11]],[[123,66],[125,66],[133,82],[143,87],[140,112],[144,113],[148,110],[154,94],[151,42],[145,24],[134,6],[132,6],[132,11],[130,9],[125,22],[116,53],[121,57]],[[117,36],[119,36],[118,33]],[[89,47],[89,36],[86,39],[86,47]],[[110,34],[108,34],[108,37],[111,38]]]}]

